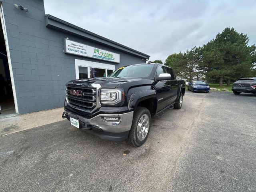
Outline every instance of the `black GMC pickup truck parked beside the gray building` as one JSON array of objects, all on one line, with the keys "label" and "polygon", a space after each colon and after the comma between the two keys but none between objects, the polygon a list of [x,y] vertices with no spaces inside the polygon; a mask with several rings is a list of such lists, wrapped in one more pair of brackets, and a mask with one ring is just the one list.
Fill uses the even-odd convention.
[{"label": "black GMC pickup truck parked beside the gray building", "polygon": [[141,146],[151,118],[167,108],[180,109],[184,80],[162,64],[118,68],[107,78],[72,80],[66,84],[62,118],[71,125],[107,140],[127,140]]}]

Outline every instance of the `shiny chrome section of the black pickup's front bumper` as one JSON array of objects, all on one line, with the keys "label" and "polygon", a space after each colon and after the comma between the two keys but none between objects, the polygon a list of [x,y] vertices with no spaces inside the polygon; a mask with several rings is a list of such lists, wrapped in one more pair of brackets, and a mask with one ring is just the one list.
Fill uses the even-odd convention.
[{"label": "shiny chrome section of the black pickup's front bumper", "polygon": [[[78,116],[76,114],[72,114],[69,111],[65,110],[65,114],[68,114],[68,117],[72,117],[78,119],[79,121],[97,127],[104,132],[112,132],[112,133],[121,133],[126,132],[131,129],[132,126],[132,118],[133,118],[133,111],[123,114],[100,114],[91,119],[84,118]],[[117,122],[110,122],[106,121],[104,117],[119,117],[120,119]]]}]

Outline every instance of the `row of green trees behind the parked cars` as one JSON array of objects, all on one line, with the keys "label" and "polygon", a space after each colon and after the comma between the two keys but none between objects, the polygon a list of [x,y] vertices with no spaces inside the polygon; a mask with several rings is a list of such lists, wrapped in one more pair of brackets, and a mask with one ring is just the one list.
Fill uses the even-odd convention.
[{"label": "row of green trees behind the parked cars", "polygon": [[256,76],[256,46],[248,42],[246,34],[227,27],[202,47],[169,55],[164,64],[179,78],[203,78],[230,86],[238,78]]}]

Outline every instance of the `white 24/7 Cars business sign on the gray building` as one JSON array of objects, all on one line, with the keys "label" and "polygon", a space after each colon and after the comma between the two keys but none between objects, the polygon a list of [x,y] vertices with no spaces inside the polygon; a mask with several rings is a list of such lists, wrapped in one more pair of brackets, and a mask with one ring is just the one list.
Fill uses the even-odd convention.
[{"label": "white 24/7 Cars business sign on the gray building", "polygon": [[71,41],[69,39],[65,39],[64,52],[68,54],[91,57],[91,58],[106,60],[110,62],[116,62],[116,63],[120,62],[119,54],[109,52],[100,48],[95,48],[82,43],[78,43],[75,41]]}]

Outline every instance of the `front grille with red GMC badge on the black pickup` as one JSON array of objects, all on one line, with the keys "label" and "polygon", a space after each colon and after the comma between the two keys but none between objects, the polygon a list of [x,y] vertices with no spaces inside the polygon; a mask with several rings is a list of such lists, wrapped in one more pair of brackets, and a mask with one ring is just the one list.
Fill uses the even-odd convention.
[{"label": "front grille with red GMC badge on the black pickup", "polygon": [[71,107],[90,111],[97,103],[96,89],[80,86],[66,86],[66,99]]}]

